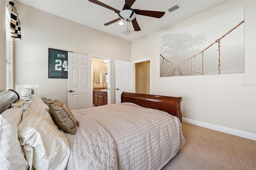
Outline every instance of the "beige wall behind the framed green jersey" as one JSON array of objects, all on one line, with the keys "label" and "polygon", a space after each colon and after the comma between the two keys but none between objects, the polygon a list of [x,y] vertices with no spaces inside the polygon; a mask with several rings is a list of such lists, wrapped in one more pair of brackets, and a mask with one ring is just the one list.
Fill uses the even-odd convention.
[{"label": "beige wall behind the framed green jersey", "polygon": [[[22,40],[14,43],[18,85],[39,85],[39,96],[67,104],[67,79],[48,79],[48,48],[111,58],[111,103],[115,103],[115,60],[130,61],[131,42],[14,2]],[[125,47],[125,48],[124,48]]]}]

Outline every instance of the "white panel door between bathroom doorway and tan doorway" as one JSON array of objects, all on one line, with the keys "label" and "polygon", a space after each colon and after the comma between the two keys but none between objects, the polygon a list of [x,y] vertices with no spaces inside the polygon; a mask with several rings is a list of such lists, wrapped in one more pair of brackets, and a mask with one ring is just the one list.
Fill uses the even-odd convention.
[{"label": "white panel door between bathroom doorway and tan doorway", "polygon": [[116,60],[116,103],[123,91],[134,93],[134,63]]}]

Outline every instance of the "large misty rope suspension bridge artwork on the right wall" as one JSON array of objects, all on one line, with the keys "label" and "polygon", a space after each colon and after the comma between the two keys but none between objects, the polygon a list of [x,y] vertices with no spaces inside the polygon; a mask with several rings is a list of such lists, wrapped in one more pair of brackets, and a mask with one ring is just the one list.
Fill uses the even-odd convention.
[{"label": "large misty rope suspension bridge artwork on the right wall", "polygon": [[244,7],[160,38],[160,77],[244,73]]}]

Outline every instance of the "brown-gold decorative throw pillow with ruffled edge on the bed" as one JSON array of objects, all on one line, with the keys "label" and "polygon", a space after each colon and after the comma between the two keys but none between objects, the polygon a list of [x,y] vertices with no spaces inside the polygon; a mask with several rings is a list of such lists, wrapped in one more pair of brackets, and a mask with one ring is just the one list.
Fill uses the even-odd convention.
[{"label": "brown-gold decorative throw pillow with ruffled edge on the bed", "polygon": [[55,100],[54,103],[50,105],[50,113],[61,130],[68,134],[76,134],[76,119],[66,105]]}]

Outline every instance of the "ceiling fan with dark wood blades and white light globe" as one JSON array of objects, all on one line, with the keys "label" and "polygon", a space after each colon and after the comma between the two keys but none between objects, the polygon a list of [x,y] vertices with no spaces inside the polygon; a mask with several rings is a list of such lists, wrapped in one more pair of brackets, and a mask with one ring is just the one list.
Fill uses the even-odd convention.
[{"label": "ceiling fan with dark wood blades and white light globe", "polygon": [[120,18],[117,18],[115,20],[112,20],[112,21],[104,24],[105,26],[113,24],[114,22],[117,22],[117,21],[122,19],[126,22],[131,21],[132,26],[134,28],[134,31],[140,31],[140,26],[139,26],[139,24],[136,20],[136,14],[144,15],[144,16],[150,16],[150,17],[154,17],[154,18],[161,18],[165,14],[165,12],[160,12],[160,11],[147,11],[147,10],[132,9],[131,6],[136,0],[125,0],[125,4],[124,4],[124,7],[123,7],[122,11],[119,11],[115,8],[112,8],[111,6],[108,6],[108,5],[102,3],[98,0],[89,0],[89,1],[94,3],[94,4],[97,4],[97,5],[103,6],[105,8],[108,8],[110,10],[113,10],[120,17]]}]

